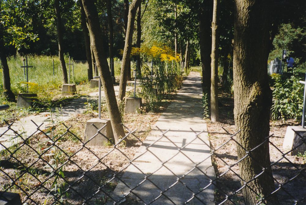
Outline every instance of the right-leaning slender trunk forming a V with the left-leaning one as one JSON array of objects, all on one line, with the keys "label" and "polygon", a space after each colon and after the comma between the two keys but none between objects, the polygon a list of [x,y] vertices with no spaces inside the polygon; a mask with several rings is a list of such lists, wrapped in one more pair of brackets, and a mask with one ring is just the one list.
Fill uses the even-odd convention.
[{"label": "right-leaning slender trunk forming a V with the left-leaning one", "polygon": [[135,16],[140,2],[141,0],[133,0],[129,9],[128,26],[126,29],[125,45],[123,50],[122,67],[120,73],[120,85],[119,85],[119,94],[118,94],[118,98],[120,100],[123,100],[123,98],[125,97],[126,81],[128,77],[127,73],[129,65],[131,65],[130,55],[132,51],[132,39],[133,39]]}]

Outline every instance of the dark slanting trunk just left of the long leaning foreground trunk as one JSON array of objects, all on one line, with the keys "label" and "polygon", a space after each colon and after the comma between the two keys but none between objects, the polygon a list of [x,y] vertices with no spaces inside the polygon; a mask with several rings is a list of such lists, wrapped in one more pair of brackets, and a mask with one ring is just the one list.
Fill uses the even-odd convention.
[{"label": "dark slanting trunk just left of the long leaning foreground trunk", "polygon": [[88,76],[88,81],[90,82],[90,80],[93,79],[90,37],[89,37],[89,32],[88,32],[87,23],[86,23],[86,15],[84,12],[82,1],[79,0],[79,2],[80,2],[80,12],[81,12],[81,24],[82,24],[82,30],[83,30],[83,35],[84,35],[84,41],[85,41],[86,59],[87,59],[87,64],[88,64],[87,76]]}]

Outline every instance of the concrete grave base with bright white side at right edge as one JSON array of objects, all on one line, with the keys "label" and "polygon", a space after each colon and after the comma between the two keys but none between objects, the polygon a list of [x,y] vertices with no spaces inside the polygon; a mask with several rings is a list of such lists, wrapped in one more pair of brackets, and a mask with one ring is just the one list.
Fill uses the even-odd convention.
[{"label": "concrete grave base with bright white side at right edge", "polygon": [[[304,143],[299,147],[297,146],[303,142],[303,139],[293,130],[295,130],[304,139]],[[288,126],[284,138],[283,148],[285,152],[287,152],[295,147],[297,148],[290,152],[291,155],[297,155],[298,152],[304,154],[306,151],[306,128],[302,128],[301,126]]]}]

